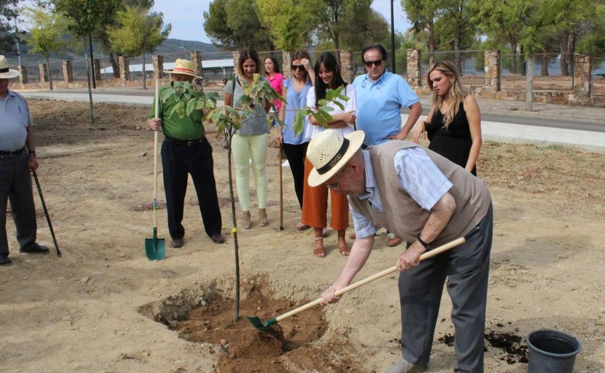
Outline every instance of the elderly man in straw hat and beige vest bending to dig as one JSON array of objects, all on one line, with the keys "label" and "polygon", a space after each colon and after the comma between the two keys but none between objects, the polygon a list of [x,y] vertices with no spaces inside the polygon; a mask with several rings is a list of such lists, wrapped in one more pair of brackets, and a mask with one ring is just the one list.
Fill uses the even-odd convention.
[{"label": "elderly man in straw hat and beige vest bending to dig", "polygon": [[[322,305],[338,301],[364,266],[378,227],[407,241],[397,260],[403,358],[388,372],[428,368],[443,282],[455,326],[456,372],[483,372],[483,332],[492,242],[492,206],[482,181],[415,143],[387,141],[361,150],[364,132],[343,138],[327,130],[309,143],[309,185],[348,195],[357,238]],[[465,244],[419,262],[432,247],[464,236]]]}]

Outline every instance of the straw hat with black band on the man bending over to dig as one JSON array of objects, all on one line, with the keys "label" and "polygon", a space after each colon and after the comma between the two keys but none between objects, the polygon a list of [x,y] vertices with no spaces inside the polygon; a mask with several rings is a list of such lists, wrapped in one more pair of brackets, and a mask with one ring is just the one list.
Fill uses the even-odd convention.
[{"label": "straw hat with black band on the man bending over to dig", "polygon": [[314,137],[307,148],[307,157],[313,164],[309,186],[321,185],[333,177],[361,148],[364,137],[364,131],[355,131],[342,137],[332,129],[326,129]]}]

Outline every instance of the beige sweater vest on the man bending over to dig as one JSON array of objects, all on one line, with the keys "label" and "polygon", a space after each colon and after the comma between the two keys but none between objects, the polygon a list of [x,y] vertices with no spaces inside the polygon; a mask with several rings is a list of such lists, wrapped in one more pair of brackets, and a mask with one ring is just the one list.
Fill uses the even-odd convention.
[{"label": "beige sweater vest on the man bending over to dig", "polygon": [[[376,187],[382,202],[382,211],[374,211],[368,199],[349,198],[356,212],[365,215],[374,225],[385,227],[406,242],[416,241],[416,237],[431,215],[430,211],[422,209],[401,186],[393,164],[393,157],[397,151],[414,146],[418,145],[410,141],[393,140],[368,148]],[[420,148],[427,152],[443,175],[451,181],[453,186],[448,192],[456,201],[456,210],[450,221],[431,244],[432,247],[436,247],[465,236],[479,224],[488,212],[491,196],[483,181],[470,172],[436,152]]]}]

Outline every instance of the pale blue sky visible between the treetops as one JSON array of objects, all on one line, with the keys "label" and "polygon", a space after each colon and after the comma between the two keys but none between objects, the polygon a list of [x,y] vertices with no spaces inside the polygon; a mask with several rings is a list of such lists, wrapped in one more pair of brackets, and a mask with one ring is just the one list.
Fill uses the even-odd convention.
[{"label": "pale blue sky visible between the treetops", "polygon": [[[203,12],[208,11],[210,2],[211,0],[155,0],[153,10],[164,13],[164,22],[172,24],[170,38],[210,43],[203,27]],[[374,0],[371,7],[391,24],[390,0]],[[410,23],[401,9],[401,2],[394,1],[393,7],[395,30],[405,33]]]}]

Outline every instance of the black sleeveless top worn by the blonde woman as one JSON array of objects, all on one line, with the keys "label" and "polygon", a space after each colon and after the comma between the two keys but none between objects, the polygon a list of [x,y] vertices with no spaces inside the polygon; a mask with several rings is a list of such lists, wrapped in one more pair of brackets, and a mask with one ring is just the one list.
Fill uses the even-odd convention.
[{"label": "black sleeveless top worn by the blonde woman", "polygon": [[[431,141],[428,145],[429,149],[463,168],[466,166],[473,140],[471,140],[471,129],[468,126],[463,102],[460,102],[460,108],[448,128],[443,126],[443,114],[440,109],[437,109],[426,130],[428,140]],[[477,166],[473,167],[472,174],[477,176]]]}]

